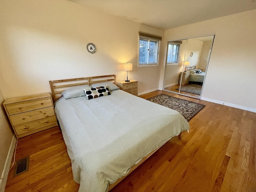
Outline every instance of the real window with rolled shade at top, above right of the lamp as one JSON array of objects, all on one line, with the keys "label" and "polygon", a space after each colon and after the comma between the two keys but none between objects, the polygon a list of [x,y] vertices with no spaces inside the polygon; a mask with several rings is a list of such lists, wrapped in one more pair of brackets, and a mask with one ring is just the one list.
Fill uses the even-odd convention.
[{"label": "real window with rolled shade at top, above right of the lamp", "polygon": [[162,37],[139,32],[138,66],[158,66],[158,44]]}]

